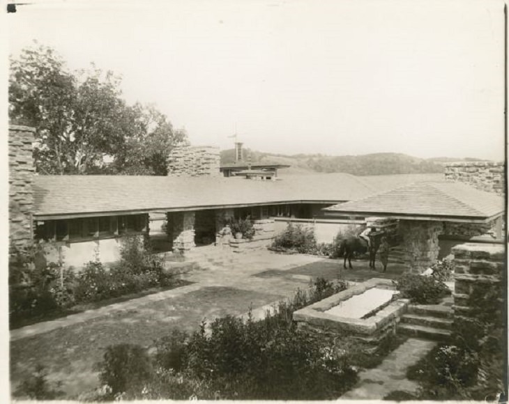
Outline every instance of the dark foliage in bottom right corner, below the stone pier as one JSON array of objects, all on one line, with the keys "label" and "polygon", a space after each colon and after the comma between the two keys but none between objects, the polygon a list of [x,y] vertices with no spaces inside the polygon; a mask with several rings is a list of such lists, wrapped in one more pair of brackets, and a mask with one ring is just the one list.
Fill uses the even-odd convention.
[{"label": "dark foliage in bottom right corner, below the stone pier", "polygon": [[469,315],[456,316],[450,343],[409,368],[408,377],[420,384],[419,399],[494,401],[503,391],[501,284],[476,285]]}]

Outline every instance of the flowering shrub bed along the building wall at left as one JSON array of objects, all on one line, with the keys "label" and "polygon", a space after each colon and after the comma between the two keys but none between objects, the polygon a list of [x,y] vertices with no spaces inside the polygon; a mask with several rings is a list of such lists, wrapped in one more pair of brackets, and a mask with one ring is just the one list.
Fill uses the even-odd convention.
[{"label": "flowering shrub bed along the building wall at left", "polygon": [[109,269],[93,261],[80,272],[61,263],[46,263],[40,247],[20,254],[9,265],[11,323],[66,311],[80,303],[172,285],[172,273],[164,270],[162,258],[151,254],[142,240],[133,237],[123,242],[120,260]]}]

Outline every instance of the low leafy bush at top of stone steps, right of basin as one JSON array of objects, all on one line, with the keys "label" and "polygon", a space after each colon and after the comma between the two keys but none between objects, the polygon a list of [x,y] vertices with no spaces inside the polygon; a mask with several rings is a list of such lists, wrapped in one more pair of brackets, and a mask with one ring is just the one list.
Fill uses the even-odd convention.
[{"label": "low leafy bush at top of stone steps, right of basin", "polygon": [[393,284],[402,297],[418,304],[437,304],[451,293],[442,281],[417,274],[403,274],[400,279],[393,280]]}]

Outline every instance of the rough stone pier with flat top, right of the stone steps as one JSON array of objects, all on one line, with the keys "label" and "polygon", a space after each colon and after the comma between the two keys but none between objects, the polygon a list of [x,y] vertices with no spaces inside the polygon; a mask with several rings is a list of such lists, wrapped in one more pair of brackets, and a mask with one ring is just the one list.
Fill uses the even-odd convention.
[{"label": "rough stone pier with flat top, right of the stone steps", "polygon": [[466,243],[454,247],[453,254],[455,328],[474,332],[473,322],[480,315],[501,320],[506,256],[503,245]]}]

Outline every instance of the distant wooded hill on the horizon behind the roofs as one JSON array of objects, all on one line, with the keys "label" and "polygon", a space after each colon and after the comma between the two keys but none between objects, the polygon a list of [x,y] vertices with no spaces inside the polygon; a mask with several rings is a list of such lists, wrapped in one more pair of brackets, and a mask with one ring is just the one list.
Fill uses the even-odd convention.
[{"label": "distant wooded hill on the horizon behind the roofs", "polygon": [[[280,155],[244,149],[244,156],[251,155],[252,162],[289,164],[283,175],[312,173],[351,173],[355,176],[388,174],[443,173],[443,163],[457,161],[480,161],[472,157],[433,157],[421,159],[402,153],[373,153],[368,155]],[[247,158],[247,157],[245,157]],[[235,150],[221,151],[221,164],[235,162]]]}]

